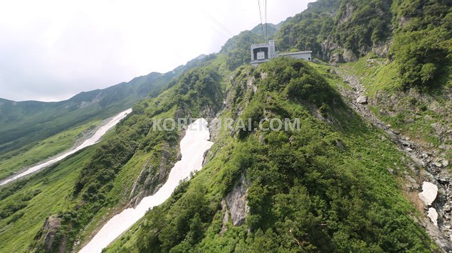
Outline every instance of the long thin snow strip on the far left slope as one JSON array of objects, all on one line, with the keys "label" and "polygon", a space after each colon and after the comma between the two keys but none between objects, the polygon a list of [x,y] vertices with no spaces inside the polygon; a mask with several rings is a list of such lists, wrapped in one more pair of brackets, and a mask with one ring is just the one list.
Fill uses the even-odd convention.
[{"label": "long thin snow strip on the far left slope", "polygon": [[64,158],[70,156],[71,154],[74,154],[75,152],[79,151],[80,149],[86,148],[87,146],[91,146],[93,144],[96,144],[100,138],[108,131],[110,130],[113,126],[115,126],[118,122],[120,122],[121,119],[124,119],[127,114],[130,114],[130,112],[132,112],[132,109],[127,109],[124,112],[121,112],[120,114],[117,114],[115,117],[113,117],[110,122],[108,122],[107,124],[100,126],[100,128],[98,129],[98,131],[95,132],[95,134],[93,136],[90,137],[90,139],[87,139],[86,141],[83,141],[83,144],[80,144],[79,146],[77,146],[75,149],[70,150],[66,153],[63,153],[59,156],[57,156],[56,158],[53,158],[49,161],[46,161],[45,163],[41,163],[38,164],[36,166],[33,166],[31,168],[28,168],[26,171],[23,171],[22,173],[17,174],[16,176],[13,176],[11,178],[6,179],[5,181],[2,181],[0,183],[1,185],[6,185],[6,183],[11,183],[12,181],[16,181],[19,178],[22,178],[23,176],[27,176],[33,172],[39,171],[42,168],[46,168],[47,166],[52,165],[53,163],[56,163],[57,161],[61,161]]}]

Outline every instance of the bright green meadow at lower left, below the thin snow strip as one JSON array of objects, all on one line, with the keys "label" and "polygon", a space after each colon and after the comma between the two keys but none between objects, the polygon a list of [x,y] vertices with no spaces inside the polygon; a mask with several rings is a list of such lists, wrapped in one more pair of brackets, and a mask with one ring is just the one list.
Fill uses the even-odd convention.
[{"label": "bright green meadow at lower left, below the thin snow strip", "polygon": [[[41,229],[46,218],[70,205],[70,193],[80,168],[89,160],[94,147],[89,147],[51,168],[26,179],[2,188],[2,193],[17,186],[14,194],[0,200],[0,207],[17,203],[22,195],[39,190],[38,195],[28,200],[26,207],[14,215],[23,214],[15,222],[14,215],[0,220],[1,252],[27,252],[29,244]],[[16,186],[17,185],[17,186]],[[11,222],[11,223],[10,223]]]}]

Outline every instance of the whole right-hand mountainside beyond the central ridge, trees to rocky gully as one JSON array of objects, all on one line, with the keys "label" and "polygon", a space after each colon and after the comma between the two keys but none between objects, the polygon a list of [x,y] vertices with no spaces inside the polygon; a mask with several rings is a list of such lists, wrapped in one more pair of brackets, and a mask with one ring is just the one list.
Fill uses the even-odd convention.
[{"label": "whole right-hand mountainside beyond the central ridge, trees to rocky gully", "polygon": [[437,185],[433,207],[449,238],[451,31],[451,1],[320,0],[275,36],[280,49],[313,50],[338,67],[351,86],[340,87],[351,106],[429,173],[416,178],[416,188],[424,180]]}]

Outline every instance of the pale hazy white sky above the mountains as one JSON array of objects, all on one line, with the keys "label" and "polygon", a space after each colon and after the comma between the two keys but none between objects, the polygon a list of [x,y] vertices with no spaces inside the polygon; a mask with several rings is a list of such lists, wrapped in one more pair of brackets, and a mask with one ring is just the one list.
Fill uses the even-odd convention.
[{"label": "pale hazy white sky above the mountains", "polygon": [[[268,0],[267,21],[310,1]],[[58,101],[167,72],[258,23],[257,0],[0,0],[0,97]]]}]

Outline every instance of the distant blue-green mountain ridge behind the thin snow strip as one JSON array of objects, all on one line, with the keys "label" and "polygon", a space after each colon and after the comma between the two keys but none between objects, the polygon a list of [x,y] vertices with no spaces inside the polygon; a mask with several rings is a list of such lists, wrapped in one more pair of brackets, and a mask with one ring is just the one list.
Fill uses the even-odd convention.
[{"label": "distant blue-green mountain ridge behind the thin snow strip", "polygon": [[90,120],[110,117],[144,97],[156,97],[169,81],[204,57],[164,74],[151,72],[102,90],[80,92],[61,102],[0,99],[0,155]]}]

